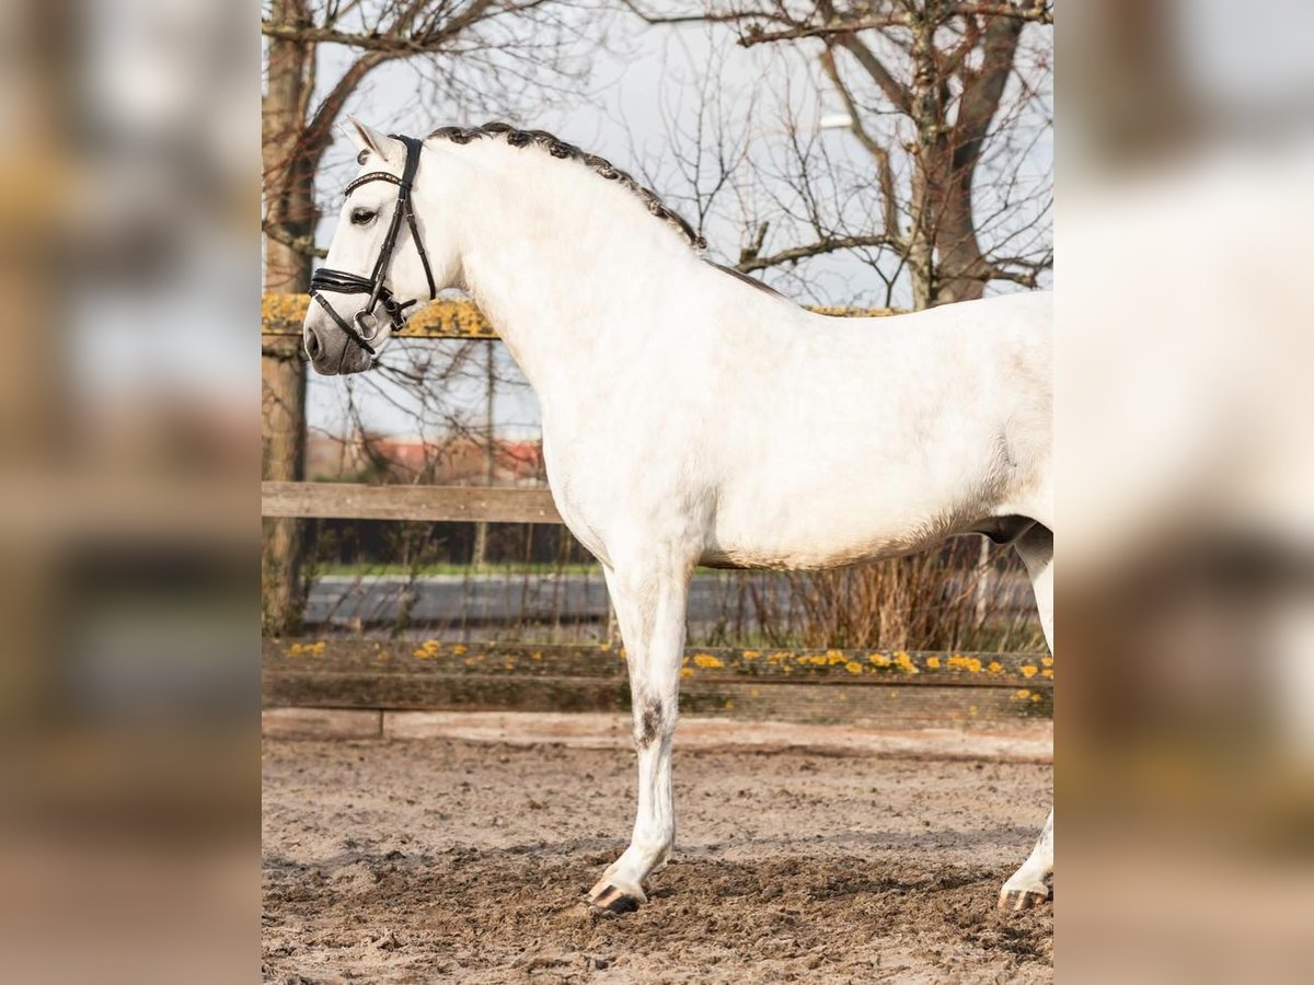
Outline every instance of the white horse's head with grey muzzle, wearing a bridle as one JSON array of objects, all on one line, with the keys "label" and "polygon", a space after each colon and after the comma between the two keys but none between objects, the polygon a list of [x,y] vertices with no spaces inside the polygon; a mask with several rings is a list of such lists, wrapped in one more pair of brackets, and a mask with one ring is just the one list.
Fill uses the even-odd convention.
[{"label": "white horse's head with grey muzzle, wearing a bridle", "polygon": [[[411,306],[456,286],[460,257],[449,231],[432,217],[434,175],[413,193],[420,142],[384,137],[357,120],[348,134],[360,154],[360,173],[347,185],[338,230],[325,265],[314,272],[302,338],[318,373],[359,373],[401,328]],[[434,168],[447,155],[423,154]]]}]

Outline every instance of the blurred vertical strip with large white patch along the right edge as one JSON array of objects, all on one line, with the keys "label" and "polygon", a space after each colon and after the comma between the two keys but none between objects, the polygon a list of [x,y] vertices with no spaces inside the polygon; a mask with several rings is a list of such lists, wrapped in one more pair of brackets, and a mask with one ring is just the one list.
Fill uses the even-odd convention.
[{"label": "blurred vertical strip with large white patch along the right edge", "polygon": [[1307,980],[1314,9],[1062,20],[1056,967]]}]

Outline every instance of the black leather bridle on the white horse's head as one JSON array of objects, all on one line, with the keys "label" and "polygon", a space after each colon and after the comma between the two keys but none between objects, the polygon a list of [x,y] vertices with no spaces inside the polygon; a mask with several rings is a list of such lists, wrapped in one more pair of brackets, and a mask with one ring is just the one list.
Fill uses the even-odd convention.
[{"label": "black leather bridle on the white horse's head", "polygon": [[[438,297],[438,288],[434,285],[434,272],[428,267],[428,256],[424,253],[424,244],[419,239],[419,229],[415,226],[415,210],[411,208],[410,198],[415,172],[419,169],[419,152],[423,144],[414,137],[399,137],[397,134],[392,134],[392,137],[406,144],[406,167],[402,168],[402,176],[397,177],[397,175],[389,175],[386,171],[371,171],[368,175],[361,175],[347,185],[346,192],[350,198],[352,192],[368,181],[390,181],[397,185],[397,209],[393,210],[393,221],[388,227],[388,236],[384,238],[384,244],[380,247],[378,260],[374,261],[373,272],[367,278],[355,273],[347,273],[346,271],[330,271],[326,267],[321,267],[310,274],[310,297],[323,306],[328,317],[338,323],[338,327],[347,332],[347,338],[365,349],[371,356],[376,353],[374,347],[369,343],[378,338],[380,328],[374,309],[382,305],[384,313],[392,322],[393,331],[398,331],[406,320],[402,313],[415,303],[414,298],[398,302],[384,284],[388,278],[388,267],[393,260],[393,250],[397,247],[397,235],[401,232],[403,215],[406,217],[406,225],[410,226],[411,239],[415,242],[415,252],[419,253],[420,263],[424,264],[424,276],[428,278],[428,298],[432,301]],[[325,297],[326,292],[332,294],[368,294],[369,303],[356,311],[351,322],[348,322],[334,311],[332,305]],[[355,327],[352,323],[355,323]]]}]

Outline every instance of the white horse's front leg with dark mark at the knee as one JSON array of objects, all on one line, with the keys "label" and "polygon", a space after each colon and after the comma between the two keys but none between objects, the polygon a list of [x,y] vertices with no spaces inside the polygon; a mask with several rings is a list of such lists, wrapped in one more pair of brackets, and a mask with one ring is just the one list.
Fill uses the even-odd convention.
[{"label": "white horse's front leg with dark mark at the knee", "polygon": [[614,913],[648,901],[644,885],[675,843],[670,743],[679,716],[679,663],[692,559],[607,569],[607,588],[625,644],[629,696],[639,753],[639,812],[629,847],[590,892],[590,902]]}]

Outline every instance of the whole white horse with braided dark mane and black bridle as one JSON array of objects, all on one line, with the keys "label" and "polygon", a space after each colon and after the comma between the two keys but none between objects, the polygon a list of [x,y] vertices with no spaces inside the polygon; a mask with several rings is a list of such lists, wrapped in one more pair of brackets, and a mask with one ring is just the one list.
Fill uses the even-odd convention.
[{"label": "whole white horse with braided dark mane and black bridle", "polygon": [[[398,298],[469,292],[539,397],[553,499],[606,574],[639,812],[594,906],[646,902],[675,841],[696,565],[830,567],[986,533],[1021,556],[1053,650],[1047,294],[825,318],[707,263],[656,196],[549,134],[448,127],[422,143],[352,121],[351,135],[363,171],[328,251],[338,269],[315,277],[314,368],[368,369],[411,303]],[[1047,898],[1053,823],[1003,908]]]}]

